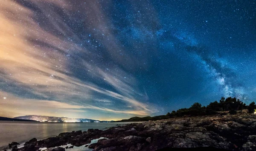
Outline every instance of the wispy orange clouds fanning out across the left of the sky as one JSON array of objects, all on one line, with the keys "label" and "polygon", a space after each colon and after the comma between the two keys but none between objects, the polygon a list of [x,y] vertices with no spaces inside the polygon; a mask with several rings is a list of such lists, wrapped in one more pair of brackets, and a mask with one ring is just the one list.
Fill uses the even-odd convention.
[{"label": "wispy orange clouds fanning out across the left of the sky", "polygon": [[[72,7],[65,1],[45,0],[45,2],[72,10]],[[50,9],[43,3],[37,1],[34,3],[46,13],[47,9]],[[3,10],[0,12],[0,80],[2,84],[8,85],[9,89],[20,88],[38,98],[44,98],[30,99],[20,93],[6,92],[6,87],[0,87],[0,96],[2,96],[0,105],[3,110],[0,112],[1,116],[11,116],[9,113],[13,115],[33,114],[35,110],[31,107],[36,107],[39,114],[52,116],[56,115],[53,111],[56,109],[67,109],[71,112],[93,109],[139,116],[146,116],[157,111],[146,103],[134,99],[134,96],[143,94],[132,91],[136,87],[136,79],[131,76],[132,80],[124,81],[122,77],[117,76],[118,74],[106,73],[95,64],[79,58],[82,62],[81,69],[92,71],[92,75],[111,84],[118,93],[99,87],[90,81],[76,78],[73,71],[69,69],[73,61],[70,61],[68,54],[78,53],[90,57],[90,53],[73,41],[66,41],[62,38],[63,35],[68,35],[80,41],[78,36],[70,32],[72,31],[69,30],[70,27],[57,13],[45,14],[48,17],[49,26],[57,29],[58,34],[53,34],[35,21],[35,14],[32,10],[14,1],[1,1],[0,10]],[[118,46],[118,44],[113,45]],[[109,51],[110,49],[112,48],[109,48]],[[116,49],[119,48],[116,47]],[[126,74],[121,69],[119,71],[122,75]],[[116,99],[126,104],[128,109],[119,110],[114,106],[98,107],[92,103],[94,93]],[[8,99],[3,99],[3,97]],[[73,98],[79,98],[79,101]],[[19,111],[13,112],[13,108],[19,108]],[[47,113],[47,110],[52,110],[52,112]]]}]

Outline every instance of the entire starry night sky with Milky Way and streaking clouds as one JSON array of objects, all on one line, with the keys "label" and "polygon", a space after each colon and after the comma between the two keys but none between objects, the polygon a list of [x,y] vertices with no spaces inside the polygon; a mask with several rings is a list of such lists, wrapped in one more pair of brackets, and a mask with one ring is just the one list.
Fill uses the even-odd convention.
[{"label": "entire starry night sky with Milky Way and streaking clouds", "polygon": [[255,0],[1,0],[0,116],[117,120],[256,101]]}]

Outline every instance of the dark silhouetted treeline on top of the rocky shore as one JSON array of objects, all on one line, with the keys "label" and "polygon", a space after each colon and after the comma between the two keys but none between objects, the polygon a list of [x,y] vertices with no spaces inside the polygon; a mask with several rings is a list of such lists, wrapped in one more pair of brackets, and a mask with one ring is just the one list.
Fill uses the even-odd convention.
[{"label": "dark silhouetted treeline on top of the rocky shore", "polygon": [[[219,102],[211,102],[207,107],[203,106],[196,102],[189,108],[181,108],[177,111],[173,110],[172,113],[167,113],[166,116],[203,116],[203,115],[214,115],[218,114],[218,111],[229,111],[230,114],[236,114],[238,110],[247,109],[248,113],[253,113],[256,109],[255,102],[246,105],[235,97],[229,97],[225,99],[222,97]],[[225,114],[225,113],[222,113]]]}]

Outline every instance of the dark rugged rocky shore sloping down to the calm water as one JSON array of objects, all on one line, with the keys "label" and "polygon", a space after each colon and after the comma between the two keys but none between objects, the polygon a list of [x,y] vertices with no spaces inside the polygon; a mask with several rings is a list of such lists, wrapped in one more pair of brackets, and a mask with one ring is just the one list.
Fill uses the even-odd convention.
[{"label": "dark rugged rocky shore sloping down to the calm water", "polygon": [[[256,151],[256,116],[215,115],[175,117],[158,121],[117,125],[102,131],[73,131],[44,140],[31,139],[22,148],[9,144],[12,151],[64,151],[58,146],[82,146],[93,139],[98,142],[88,147],[95,151],[155,151],[167,148],[214,147],[233,151]],[[72,146],[71,146],[72,147]]]}]

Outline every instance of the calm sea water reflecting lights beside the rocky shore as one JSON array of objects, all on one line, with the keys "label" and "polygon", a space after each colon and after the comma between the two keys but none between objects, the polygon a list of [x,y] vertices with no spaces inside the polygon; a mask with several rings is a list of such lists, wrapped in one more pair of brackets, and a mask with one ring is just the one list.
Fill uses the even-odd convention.
[{"label": "calm sea water reflecting lights beside the rocky shore", "polygon": [[46,139],[57,136],[63,132],[87,131],[90,128],[106,129],[117,124],[128,124],[131,122],[114,123],[50,123],[50,122],[16,122],[0,121],[0,149],[8,146],[11,142],[20,144],[32,138]]}]

